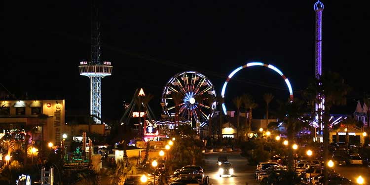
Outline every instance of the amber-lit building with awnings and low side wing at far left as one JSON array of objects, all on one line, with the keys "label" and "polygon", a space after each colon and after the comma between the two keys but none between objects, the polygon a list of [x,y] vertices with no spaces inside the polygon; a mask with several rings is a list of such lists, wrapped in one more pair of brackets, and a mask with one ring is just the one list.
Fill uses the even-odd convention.
[{"label": "amber-lit building with awnings and low side wing at far left", "polygon": [[0,134],[24,131],[36,144],[44,141],[54,145],[63,134],[71,139],[88,130],[105,134],[104,124],[66,123],[65,108],[65,100],[0,100]]}]

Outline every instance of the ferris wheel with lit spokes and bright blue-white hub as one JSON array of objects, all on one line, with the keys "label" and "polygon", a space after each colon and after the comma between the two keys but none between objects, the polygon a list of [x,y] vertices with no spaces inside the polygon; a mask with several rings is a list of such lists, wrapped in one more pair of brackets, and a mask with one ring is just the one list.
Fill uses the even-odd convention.
[{"label": "ferris wheel with lit spokes and bright blue-white hub", "polygon": [[[180,97],[177,109],[174,97]],[[176,110],[178,110],[179,117],[200,123],[200,126],[203,127],[216,109],[216,91],[212,82],[203,74],[198,72],[178,73],[171,77],[164,87],[161,106],[164,114],[175,116]]]}]

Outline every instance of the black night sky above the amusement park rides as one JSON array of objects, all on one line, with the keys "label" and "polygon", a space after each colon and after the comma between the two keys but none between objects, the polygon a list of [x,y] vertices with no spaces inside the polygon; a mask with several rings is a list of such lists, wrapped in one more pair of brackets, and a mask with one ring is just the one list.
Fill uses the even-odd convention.
[{"label": "black night sky above the amusement park rides", "polygon": [[[220,93],[227,74],[255,60],[280,68],[298,93],[314,76],[314,2],[99,2],[102,59],[114,66],[102,83],[103,118],[119,119],[123,101],[140,87],[154,95],[150,106],[159,115],[163,86],[182,71],[205,74]],[[340,73],[354,88],[352,105],[370,92],[369,4],[323,2],[323,71]],[[77,66],[90,58],[90,1],[3,3],[2,85],[17,96],[65,98],[68,111],[87,111],[89,79],[78,74]],[[244,92],[260,104],[264,92],[276,99],[288,96],[283,80],[269,70],[246,69],[235,77],[239,80],[229,84],[229,100]]]}]

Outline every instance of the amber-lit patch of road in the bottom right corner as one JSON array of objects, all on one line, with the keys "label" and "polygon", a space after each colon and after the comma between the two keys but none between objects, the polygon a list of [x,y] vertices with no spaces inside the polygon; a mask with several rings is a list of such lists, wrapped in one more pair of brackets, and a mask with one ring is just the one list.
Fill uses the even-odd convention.
[{"label": "amber-lit patch of road in the bottom right corner", "polygon": [[334,166],[335,172],[339,173],[356,183],[360,175],[364,178],[366,185],[370,185],[370,168],[365,166]]}]

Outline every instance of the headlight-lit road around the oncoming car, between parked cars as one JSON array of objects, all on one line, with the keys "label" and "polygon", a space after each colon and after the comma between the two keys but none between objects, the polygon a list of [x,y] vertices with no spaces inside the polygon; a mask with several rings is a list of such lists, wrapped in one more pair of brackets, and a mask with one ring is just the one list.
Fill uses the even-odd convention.
[{"label": "headlight-lit road around the oncoming car, between parked cars", "polygon": [[[227,156],[228,161],[234,167],[233,177],[219,177],[217,174],[217,158],[220,155]],[[247,164],[247,159],[240,156],[240,152],[212,152],[205,153],[204,174],[209,176],[210,183],[212,185],[259,185],[259,183],[254,179],[254,172],[256,166],[250,166]]]}]

